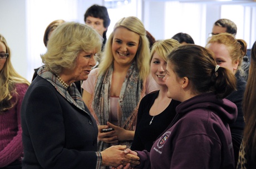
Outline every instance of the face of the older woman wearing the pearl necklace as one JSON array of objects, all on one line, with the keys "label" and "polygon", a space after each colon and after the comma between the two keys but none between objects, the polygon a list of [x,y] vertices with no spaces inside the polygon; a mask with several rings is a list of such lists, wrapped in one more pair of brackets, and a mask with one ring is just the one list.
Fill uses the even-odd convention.
[{"label": "face of the older woman wearing the pearl necklace", "polygon": [[82,51],[78,54],[76,58],[76,68],[72,70],[72,77],[75,81],[86,80],[88,78],[88,74],[96,64],[95,54],[96,50],[92,52]]}]

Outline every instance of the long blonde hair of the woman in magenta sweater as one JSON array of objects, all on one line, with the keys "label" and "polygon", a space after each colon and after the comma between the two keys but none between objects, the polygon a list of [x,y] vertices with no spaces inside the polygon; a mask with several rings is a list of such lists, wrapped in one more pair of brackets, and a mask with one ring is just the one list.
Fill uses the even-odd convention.
[{"label": "long blonde hair of the woman in magenta sweater", "polygon": [[0,112],[3,112],[11,109],[17,102],[11,101],[13,95],[17,94],[15,84],[21,83],[29,85],[30,83],[28,80],[19,75],[16,70],[14,70],[11,63],[11,51],[8,47],[6,39],[1,34],[0,42],[6,46],[6,53],[9,54],[9,57],[6,58],[6,63],[3,65],[3,69],[0,71]]}]

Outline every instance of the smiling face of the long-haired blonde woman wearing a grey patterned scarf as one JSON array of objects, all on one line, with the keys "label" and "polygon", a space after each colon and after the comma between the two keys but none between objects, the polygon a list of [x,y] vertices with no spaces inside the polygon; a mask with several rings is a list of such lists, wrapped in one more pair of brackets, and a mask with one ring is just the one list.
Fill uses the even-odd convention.
[{"label": "smiling face of the long-haired blonde woman wearing a grey patterned scarf", "polygon": [[112,40],[112,53],[114,64],[130,66],[135,58],[140,43],[140,35],[124,27],[114,32]]}]

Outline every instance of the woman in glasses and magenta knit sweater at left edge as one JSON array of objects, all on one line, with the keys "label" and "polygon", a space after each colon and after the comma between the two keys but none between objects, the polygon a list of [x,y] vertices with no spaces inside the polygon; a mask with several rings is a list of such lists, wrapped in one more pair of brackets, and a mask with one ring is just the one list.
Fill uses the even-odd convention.
[{"label": "woman in glasses and magenta knit sweater at left edge", "polygon": [[11,50],[0,34],[0,167],[22,168],[21,104],[29,82],[11,63]]}]

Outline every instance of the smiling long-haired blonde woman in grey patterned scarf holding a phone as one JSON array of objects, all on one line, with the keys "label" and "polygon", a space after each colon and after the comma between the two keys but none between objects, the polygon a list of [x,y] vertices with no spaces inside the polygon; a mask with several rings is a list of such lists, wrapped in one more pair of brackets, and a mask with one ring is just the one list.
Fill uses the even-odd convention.
[{"label": "smiling long-haired blonde woman in grey patterned scarf holding a phone", "polygon": [[[130,146],[140,100],[159,89],[150,75],[150,49],[140,19],[120,19],[105,45],[99,68],[83,82],[83,101],[99,125],[99,150]],[[102,132],[111,127],[114,131]]]}]

